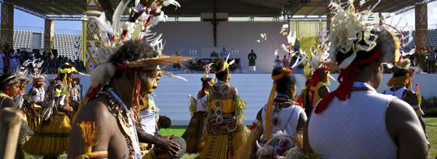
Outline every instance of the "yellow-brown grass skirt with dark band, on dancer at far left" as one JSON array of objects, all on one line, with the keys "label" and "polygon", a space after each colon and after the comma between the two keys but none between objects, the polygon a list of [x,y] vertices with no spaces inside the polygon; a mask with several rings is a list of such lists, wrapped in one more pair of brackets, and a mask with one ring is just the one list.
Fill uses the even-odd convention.
[{"label": "yellow-brown grass skirt with dark band, on dancer at far left", "polygon": [[43,121],[38,130],[23,145],[31,155],[57,156],[68,150],[71,132],[70,119],[65,113],[53,114]]}]

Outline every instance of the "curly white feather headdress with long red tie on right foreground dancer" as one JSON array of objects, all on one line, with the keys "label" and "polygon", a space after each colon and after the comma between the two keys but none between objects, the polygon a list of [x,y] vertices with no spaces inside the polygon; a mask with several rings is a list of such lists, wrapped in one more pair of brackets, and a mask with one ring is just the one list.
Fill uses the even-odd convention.
[{"label": "curly white feather headdress with long red tie on right foreground dancer", "polygon": [[[340,83],[339,87],[322,98],[316,107],[316,114],[325,110],[334,97],[337,97],[340,101],[350,97],[354,76],[360,72],[357,66],[375,61],[388,63],[390,66],[391,63],[400,60],[401,53],[399,49],[403,50],[406,45],[405,37],[400,35],[402,39],[399,40],[397,34],[391,30],[398,33],[402,32],[389,24],[385,24],[378,14],[372,12],[379,1],[370,6],[368,10],[363,11],[360,11],[360,9],[367,1],[361,0],[357,9],[355,9],[353,2],[353,0],[349,0],[341,4],[330,4],[335,8],[333,11],[335,15],[332,18],[329,30],[329,40],[331,42],[329,52],[334,62],[337,62],[336,57],[347,57],[338,64],[340,69],[337,78]],[[380,45],[375,48],[377,42]],[[374,54],[362,55],[367,57],[359,61],[355,60],[358,53],[365,54],[372,50],[376,50]]]}]

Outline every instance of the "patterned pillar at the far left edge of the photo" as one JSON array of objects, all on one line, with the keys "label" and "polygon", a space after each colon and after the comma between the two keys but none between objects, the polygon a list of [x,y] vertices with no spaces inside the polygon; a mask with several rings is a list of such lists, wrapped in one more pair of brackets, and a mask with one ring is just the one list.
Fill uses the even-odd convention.
[{"label": "patterned pillar at the far left edge of the photo", "polygon": [[5,49],[5,45],[9,45],[9,49],[13,46],[14,34],[14,6],[2,4],[2,13],[0,17],[0,49]]}]

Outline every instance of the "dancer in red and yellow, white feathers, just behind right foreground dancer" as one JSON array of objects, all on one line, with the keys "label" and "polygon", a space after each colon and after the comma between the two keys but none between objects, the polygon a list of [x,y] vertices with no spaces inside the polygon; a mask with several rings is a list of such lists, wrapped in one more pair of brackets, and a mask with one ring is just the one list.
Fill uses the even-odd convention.
[{"label": "dancer in red and yellow, white feathers, just behind right foreground dancer", "polygon": [[330,71],[337,69],[335,65],[331,64],[329,57],[329,44],[323,41],[317,48],[311,49],[311,58],[305,59],[309,64],[309,74],[304,74],[307,78],[305,82],[304,91],[302,91],[302,106],[305,108],[305,113],[309,117],[313,111],[314,106],[320,99],[329,93],[326,87],[330,85]]}]

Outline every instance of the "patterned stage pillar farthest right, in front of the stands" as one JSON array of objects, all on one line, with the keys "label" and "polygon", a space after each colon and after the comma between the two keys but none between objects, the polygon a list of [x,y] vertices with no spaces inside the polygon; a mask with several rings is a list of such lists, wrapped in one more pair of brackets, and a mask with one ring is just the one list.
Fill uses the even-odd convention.
[{"label": "patterned stage pillar farthest right, in front of the stands", "polygon": [[428,50],[428,6],[427,4],[416,5],[415,24],[416,24],[416,48]]}]

